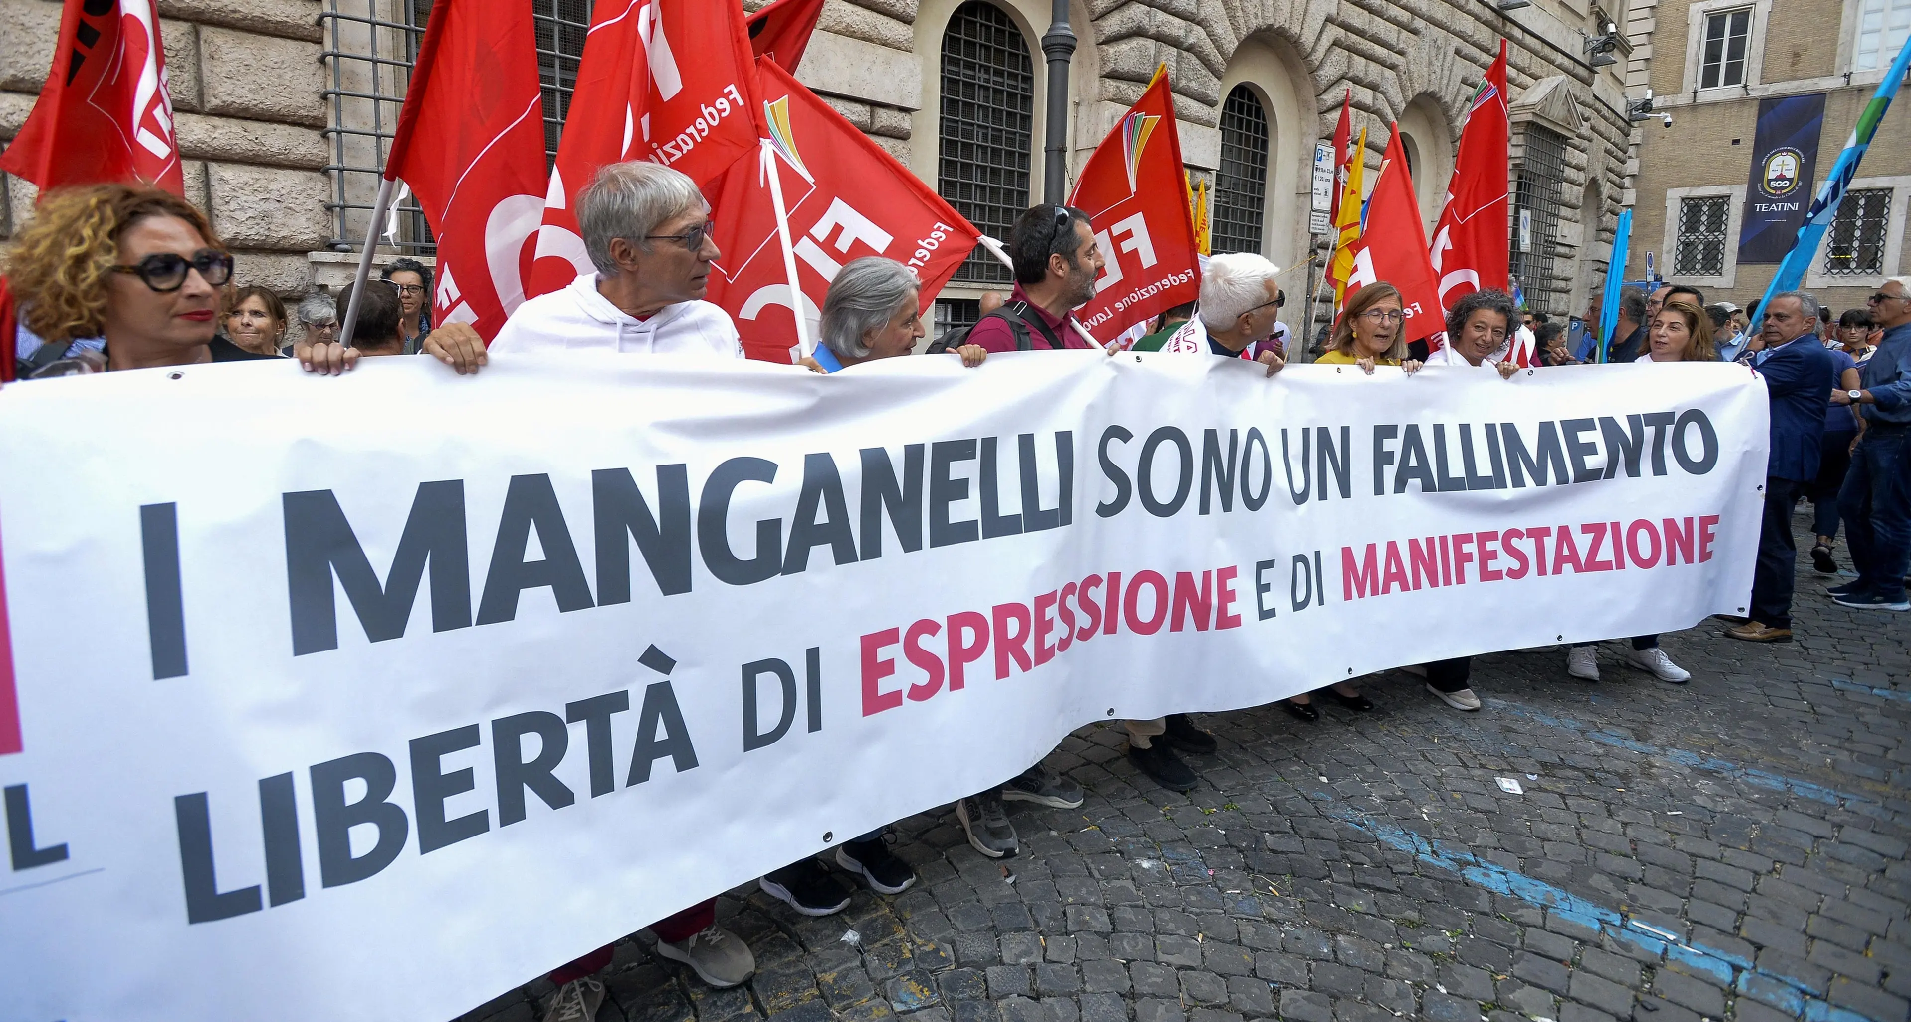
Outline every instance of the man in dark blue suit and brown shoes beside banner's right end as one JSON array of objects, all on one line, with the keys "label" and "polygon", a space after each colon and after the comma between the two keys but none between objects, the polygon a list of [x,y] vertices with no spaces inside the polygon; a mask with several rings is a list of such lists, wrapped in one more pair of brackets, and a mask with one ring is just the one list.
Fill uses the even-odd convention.
[{"label": "man in dark blue suit and brown shoes beside banner's right end", "polygon": [[1825,403],[1838,382],[1838,365],[1817,340],[1817,298],[1787,290],[1764,308],[1764,348],[1752,369],[1771,395],[1771,457],[1766,462],[1766,516],[1752,569],[1750,619],[1726,628],[1726,638],[1791,642],[1793,579],[1798,546],[1791,512],[1806,481],[1817,478],[1825,437]]}]

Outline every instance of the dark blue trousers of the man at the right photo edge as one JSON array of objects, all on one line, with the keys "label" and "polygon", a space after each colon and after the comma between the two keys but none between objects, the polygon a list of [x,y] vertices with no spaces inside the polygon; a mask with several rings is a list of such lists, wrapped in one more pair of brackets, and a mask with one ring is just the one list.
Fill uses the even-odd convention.
[{"label": "dark blue trousers of the man at the right photo edge", "polygon": [[1903,596],[1911,554],[1911,428],[1871,424],[1838,491],[1857,590]]}]

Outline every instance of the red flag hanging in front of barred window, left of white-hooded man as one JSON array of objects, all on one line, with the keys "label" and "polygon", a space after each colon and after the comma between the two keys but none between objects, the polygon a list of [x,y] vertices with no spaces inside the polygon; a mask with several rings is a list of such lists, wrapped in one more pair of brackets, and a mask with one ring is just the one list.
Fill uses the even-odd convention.
[{"label": "red flag hanging in front of barred window, left of white-hooded man", "polygon": [[470,323],[489,342],[524,302],[526,241],[545,212],[543,109],[531,8],[440,0],[384,164],[438,237],[432,323]]}]

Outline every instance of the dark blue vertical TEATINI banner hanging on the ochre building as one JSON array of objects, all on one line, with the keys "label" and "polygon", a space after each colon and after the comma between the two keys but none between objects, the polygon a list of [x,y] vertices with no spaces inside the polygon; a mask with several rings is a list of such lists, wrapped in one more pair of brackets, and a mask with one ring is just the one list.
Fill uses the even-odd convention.
[{"label": "dark blue vertical TEATINI banner hanging on the ochre building", "polygon": [[1825,94],[1758,101],[1752,176],[1745,185],[1739,262],[1775,264],[1791,250],[1812,206],[1817,134],[1825,126]]}]

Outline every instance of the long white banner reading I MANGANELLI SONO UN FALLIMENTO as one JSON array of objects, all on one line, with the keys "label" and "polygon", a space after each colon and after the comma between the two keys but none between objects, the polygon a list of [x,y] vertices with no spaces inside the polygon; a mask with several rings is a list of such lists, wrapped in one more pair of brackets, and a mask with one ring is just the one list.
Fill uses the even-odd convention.
[{"label": "long white banner reading I MANGANELLI SONO UN FALLIMENTO", "polygon": [[441,1022],[1093,720],[1735,613],[1766,430],[1728,365],[8,386],[0,1018]]}]

